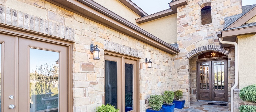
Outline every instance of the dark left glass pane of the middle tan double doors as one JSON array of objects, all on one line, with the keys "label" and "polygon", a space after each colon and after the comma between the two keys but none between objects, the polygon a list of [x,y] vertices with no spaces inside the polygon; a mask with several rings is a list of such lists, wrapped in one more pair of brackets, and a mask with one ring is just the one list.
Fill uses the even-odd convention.
[{"label": "dark left glass pane of the middle tan double doors", "polygon": [[105,103],[117,108],[117,62],[105,61]]}]

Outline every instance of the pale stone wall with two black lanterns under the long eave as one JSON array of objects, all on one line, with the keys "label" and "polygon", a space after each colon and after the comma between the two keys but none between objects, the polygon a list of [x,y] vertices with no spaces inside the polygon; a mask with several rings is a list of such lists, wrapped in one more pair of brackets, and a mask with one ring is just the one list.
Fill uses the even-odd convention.
[{"label": "pale stone wall with two black lanterns under the long eave", "polygon": [[[46,23],[50,22],[63,26],[64,31],[65,28],[68,28],[68,31],[70,31],[69,29],[74,31],[74,35],[71,33],[72,38],[66,38],[75,41],[73,44],[74,112],[93,112],[96,106],[105,102],[104,50],[120,52],[140,58],[138,74],[140,78],[140,92],[138,93],[140,96],[140,112],[145,112],[149,108],[147,99],[150,95],[162,94],[165,90],[173,90],[173,75],[171,72],[174,65],[173,61],[180,58],[171,58],[173,56],[164,51],[47,1],[1,0],[0,4],[1,9],[10,8],[11,11],[22,12],[21,15],[27,14],[29,15],[28,17],[38,17],[44,20],[44,22],[40,22],[44,27],[39,26],[39,29],[42,28],[42,31],[44,31],[41,33],[45,33],[43,29],[46,29],[45,26],[49,27],[49,24]],[[53,26],[54,28],[56,26]],[[98,48],[101,50],[100,60],[92,59],[92,54],[90,53],[91,43],[98,45]],[[152,59],[152,68],[147,68],[145,58]],[[182,79],[187,78],[184,77]],[[182,84],[178,83],[179,85]]]}]

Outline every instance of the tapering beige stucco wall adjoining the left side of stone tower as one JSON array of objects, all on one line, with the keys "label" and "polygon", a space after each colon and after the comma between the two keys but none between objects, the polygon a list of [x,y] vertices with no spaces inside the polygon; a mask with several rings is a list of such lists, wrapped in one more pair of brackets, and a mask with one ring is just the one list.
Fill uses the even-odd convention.
[{"label": "tapering beige stucco wall adjoining the left side of stone tower", "polygon": [[140,27],[168,44],[177,42],[177,14],[140,24]]}]

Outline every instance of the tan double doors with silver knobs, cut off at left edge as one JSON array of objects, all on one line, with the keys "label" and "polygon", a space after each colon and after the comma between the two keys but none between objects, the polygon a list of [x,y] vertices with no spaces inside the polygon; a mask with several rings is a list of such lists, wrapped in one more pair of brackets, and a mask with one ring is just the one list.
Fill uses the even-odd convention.
[{"label": "tan double doors with silver knobs, cut off at left edge", "polygon": [[0,34],[0,111],[67,112],[67,47]]}]

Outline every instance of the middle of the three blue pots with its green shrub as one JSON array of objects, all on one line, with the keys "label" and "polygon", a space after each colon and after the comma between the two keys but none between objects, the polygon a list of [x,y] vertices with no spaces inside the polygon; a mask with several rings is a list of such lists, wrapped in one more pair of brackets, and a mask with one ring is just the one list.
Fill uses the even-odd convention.
[{"label": "middle of the three blue pots with its green shrub", "polygon": [[175,103],[173,103],[174,92],[173,91],[165,91],[164,92],[164,105],[162,105],[162,109],[164,112],[174,112]]}]

